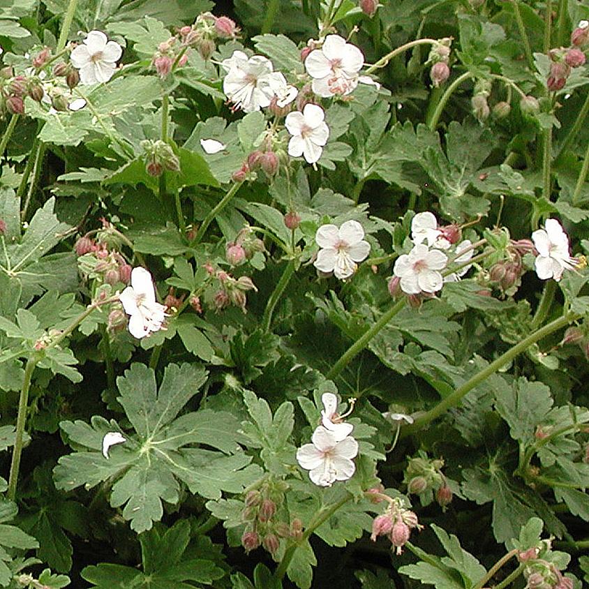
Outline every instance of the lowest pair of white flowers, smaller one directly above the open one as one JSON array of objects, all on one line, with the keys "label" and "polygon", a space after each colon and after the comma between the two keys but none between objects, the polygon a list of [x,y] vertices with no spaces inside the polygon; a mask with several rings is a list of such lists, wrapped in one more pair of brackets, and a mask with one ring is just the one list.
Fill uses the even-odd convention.
[{"label": "lowest pair of white flowers, smaller one directly above the open one", "polygon": [[352,458],[358,454],[358,442],[350,435],[354,426],[343,422],[346,415],[337,413],[337,397],[333,393],[325,393],[321,400],[321,425],[315,428],[312,443],[297,450],[297,461],[301,468],[310,471],[309,478],[313,483],[331,486],[354,475],[356,465]]}]

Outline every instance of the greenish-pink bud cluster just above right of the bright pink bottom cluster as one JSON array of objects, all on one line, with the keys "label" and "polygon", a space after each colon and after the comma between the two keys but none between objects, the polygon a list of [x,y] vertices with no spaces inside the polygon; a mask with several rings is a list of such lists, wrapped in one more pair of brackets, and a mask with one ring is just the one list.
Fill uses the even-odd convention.
[{"label": "greenish-pink bud cluster just above right of the bright pink bottom cluster", "polygon": [[423,505],[428,505],[433,498],[445,509],[452,502],[452,489],[442,474],[444,461],[441,458],[429,459],[424,452],[417,458],[410,458],[405,470],[403,482],[407,484],[407,492],[419,495]]}]

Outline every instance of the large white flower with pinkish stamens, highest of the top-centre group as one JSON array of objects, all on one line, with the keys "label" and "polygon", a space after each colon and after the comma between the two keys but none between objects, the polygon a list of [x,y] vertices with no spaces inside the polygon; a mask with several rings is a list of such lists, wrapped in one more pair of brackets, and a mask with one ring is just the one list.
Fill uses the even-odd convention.
[{"label": "large white flower with pinkish stamens, highest of the top-centre group", "polygon": [[338,35],[328,35],[321,49],[311,51],[305,59],[313,92],[324,98],[354,91],[363,65],[364,55],[358,47]]}]

